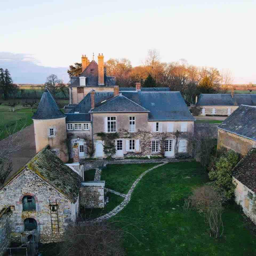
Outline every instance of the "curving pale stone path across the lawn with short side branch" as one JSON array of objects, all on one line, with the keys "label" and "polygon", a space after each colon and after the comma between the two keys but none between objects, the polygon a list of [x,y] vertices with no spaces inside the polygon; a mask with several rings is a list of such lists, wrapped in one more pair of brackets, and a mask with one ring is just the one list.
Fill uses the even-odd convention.
[{"label": "curving pale stone path across the lawn with short side branch", "polygon": [[[107,214],[105,214],[105,215],[102,215],[101,217],[98,217],[98,218],[96,218],[96,219],[91,220],[91,222],[105,221],[105,220],[107,220],[107,219],[109,219],[109,218],[115,216],[115,215],[116,215],[117,213],[119,213],[120,211],[122,211],[123,208],[130,202],[130,200],[131,200],[131,193],[133,193],[133,190],[134,190],[135,186],[136,186],[137,183],[142,179],[142,177],[143,177],[145,174],[147,174],[149,171],[151,171],[151,170],[153,170],[153,169],[155,169],[155,168],[158,168],[158,167],[160,167],[160,166],[162,166],[162,165],[165,165],[166,163],[167,163],[167,162],[161,163],[161,164],[159,164],[159,165],[156,165],[156,166],[154,166],[154,167],[152,167],[152,168],[147,169],[146,171],[144,171],[144,172],[139,176],[139,178],[136,179],[136,181],[133,182],[133,185],[131,186],[131,188],[130,188],[130,190],[128,191],[128,193],[127,193],[126,195],[123,194],[125,199],[123,200],[123,202],[122,202],[120,205],[118,205],[117,207],[115,207],[115,208],[114,208],[112,211],[110,211],[109,213],[107,213]],[[109,191],[110,191],[110,190],[109,190]],[[112,190],[112,191],[115,192],[115,194],[118,193],[118,192],[116,192],[116,191],[114,191],[114,190]],[[111,192],[111,191],[110,191],[110,192]],[[120,194],[120,193],[119,193],[119,194]],[[121,195],[121,196],[122,196],[122,195]],[[86,223],[88,223],[88,221],[81,221],[81,222],[79,222],[80,225],[86,225]]]}]

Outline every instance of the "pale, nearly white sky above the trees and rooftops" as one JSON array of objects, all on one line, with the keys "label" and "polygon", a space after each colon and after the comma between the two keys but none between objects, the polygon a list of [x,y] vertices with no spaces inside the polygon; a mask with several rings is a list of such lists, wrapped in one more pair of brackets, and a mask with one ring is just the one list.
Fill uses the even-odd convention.
[{"label": "pale, nearly white sky above the trees and rooftops", "polygon": [[[235,0],[2,0],[0,66],[11,69],[18,56],[21,70],[10,71],[21,83],[25,62],[66,70],[94,52],[136,66],[155,48],[161,61],[230,69],[234,83],[256,83],[255,10],[256,1]],[[23,82],[35,81],[32,69]]]}]

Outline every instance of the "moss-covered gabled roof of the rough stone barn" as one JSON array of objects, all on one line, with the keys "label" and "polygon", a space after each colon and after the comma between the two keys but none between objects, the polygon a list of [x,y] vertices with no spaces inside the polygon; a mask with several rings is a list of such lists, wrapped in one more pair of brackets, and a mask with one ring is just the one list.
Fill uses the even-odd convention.
[{"label": "moss-covered gabled roof of the rough stone barn", "polygon": [[23,170],[28,169],[55,187],[72,202],[76,202],[79,196],[82,177],[51,153],[49,148],[49,146],[46,146],[39,151],[24,167],[5,182],[3,187],[7,186]]}]

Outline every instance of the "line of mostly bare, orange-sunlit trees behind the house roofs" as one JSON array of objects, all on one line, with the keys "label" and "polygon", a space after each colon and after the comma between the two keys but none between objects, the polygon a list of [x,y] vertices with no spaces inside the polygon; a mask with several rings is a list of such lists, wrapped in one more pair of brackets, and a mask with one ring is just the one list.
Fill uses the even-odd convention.
[{"label": "line of mostly bare, orange-sunlit trees behind the house roofs", "polygon": [[[212,67],[189,65],[186,60],[161,62],[159,52],[149,50],[145,61],[133,67],[127,58],[106,61],[107,75],[115,76],[120,87],[134,87],[140,82],[142,87],[170,87],[171,91],[180,91],[189,102],[195,103],[200,93],[227,93],[232,83],[230,71],[220,72]],[[69,67],[67,73],[77,76],[81,73],[81,63]]]}]

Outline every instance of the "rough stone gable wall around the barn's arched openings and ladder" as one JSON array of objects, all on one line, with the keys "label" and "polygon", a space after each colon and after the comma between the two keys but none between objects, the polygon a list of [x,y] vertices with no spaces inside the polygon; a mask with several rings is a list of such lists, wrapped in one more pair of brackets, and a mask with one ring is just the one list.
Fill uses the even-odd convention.
[{"label": "rough stone gable wall around the barn's arched openings and ladder", "polygon": [[[36,210],[23,211],[22,198],[31,195],[35,199]],[[58,229],[51,229],[49,199],[58,204],[59,233]],[[76,220],[79,209],[67,199],[62,193],[56,190],[41,177],[24,169],[7,186],[0,190],[0,209],[13,206],[12,210],[12,237],[19,239],[20,233],[24,231],[24,220],[33,218],[37,221],[38,231],[40,230],[41,242],[55,242],[61,238],[70,222]],[[16,234],[17,233],[17,234]]]}]

